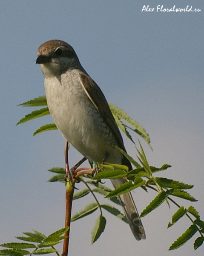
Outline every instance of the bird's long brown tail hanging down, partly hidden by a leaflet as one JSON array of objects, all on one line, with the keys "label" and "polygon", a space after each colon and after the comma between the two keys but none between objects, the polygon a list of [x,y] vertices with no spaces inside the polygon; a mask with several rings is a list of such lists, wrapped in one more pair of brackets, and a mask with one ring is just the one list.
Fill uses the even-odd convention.
[{"label": "bird's long brown tail hanging down, partly hidden by a leaflet", "polygon": [[[111,181],[115,188],[125,182],[123,179],[112,179]],[[124,213],[129,222],[129,226],[132,230],[133,235],[137,240],[145,239],[146,236],[144,232],[144,227],[141,223],[141,219],[135,203],[132,199],[131,193],[127,192],[125,194],[122,194],[119,196],[119,199],[121,201],[121,205],[124,209]]]}]

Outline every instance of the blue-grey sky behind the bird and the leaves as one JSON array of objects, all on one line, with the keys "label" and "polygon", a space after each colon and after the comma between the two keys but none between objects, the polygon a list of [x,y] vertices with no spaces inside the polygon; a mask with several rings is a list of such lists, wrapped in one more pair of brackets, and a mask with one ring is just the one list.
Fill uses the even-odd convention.
[{"label": "blue-grey sky behind the bird and the leaves", "polygon": [[[155,12],[141,12],[144,5]],[[193,5],[201,12],[157,13],[158,5]],[[204,219],[203,24],[203,0],[0,1],[0,243],[32,229],[48,235],[64,225],[65,187],[47,182],[52,174],[46,171],[64,166],[64,139],[58,131],[32,136],[52,122],[50,116],[16,126],[34,110],[17,105],[45,94],[35,60],[37,48],[51,39],[71,44],[106,99],[146,129],[153,151],[140,141],[149,164],[168,163],[172,168],[161,175],[195,185],[190,194],[197,203],[175,199],[184,207],[192,204]],[[135,157],[134,145],[127,140],[125,145]],[[70,148],[70,166],[80,157]],[[155,196],[137,189],[139,212]],[[91,201],[91,196],[74,201],[73,213]],[[140,242],[127,224],[104,212],[106,229],[91,245],[95,212],[72,223],[69,255],[203,256],[203,247],[193,249],[196,237],[168,251],[191,224],[183,218],[167,230],[176,210],[163,204],[142,218],[147,239]]]}]

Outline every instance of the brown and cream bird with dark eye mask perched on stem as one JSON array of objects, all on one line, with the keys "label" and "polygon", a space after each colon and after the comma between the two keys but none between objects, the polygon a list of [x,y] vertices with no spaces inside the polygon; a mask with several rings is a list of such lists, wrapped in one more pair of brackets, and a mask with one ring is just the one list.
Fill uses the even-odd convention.
[{"label": "brown and cream bird with dark eye mask perched on stem", "polygon": [[[49,112],[60,133],[86,159],[118,163],[132,169],[117,147],[126,151],[118,125],[100,87],[80,64],[71,45],[50,40],[37,50],[36,64],[44,75]],[[116,147],[117,146],[117,147]],[[112,179],[114,187],[125,181]],[[144,227],[130,192],[119,196],[129,226],[137,240],[145,239]]]}]

